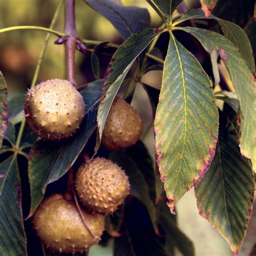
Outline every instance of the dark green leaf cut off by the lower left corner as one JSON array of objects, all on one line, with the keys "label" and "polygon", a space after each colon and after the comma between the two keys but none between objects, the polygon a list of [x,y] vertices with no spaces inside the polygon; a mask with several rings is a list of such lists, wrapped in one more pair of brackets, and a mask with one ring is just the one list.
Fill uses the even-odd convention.
[{"label": "dark green leaf cut off by the lower left corner", "polygon": [[[16,155],[0,164],[8,173],[0,196],[0,255],[27,255],[21,205],[21,180]],[[0,174],[0,184],[3,179]]]}]

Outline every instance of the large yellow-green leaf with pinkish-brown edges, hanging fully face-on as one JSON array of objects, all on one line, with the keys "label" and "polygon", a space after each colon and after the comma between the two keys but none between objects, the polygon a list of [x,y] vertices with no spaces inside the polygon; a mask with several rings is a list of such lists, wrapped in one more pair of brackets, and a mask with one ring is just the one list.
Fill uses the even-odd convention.
[{"label": "large yellow-green leaf with pinkish-brown edges, hanging fully face-on", "polygon": [[210,79],[172,33],[154,132],[159,172],[174,213],[174,205],[210,166],[218,138],[218,112]]}]

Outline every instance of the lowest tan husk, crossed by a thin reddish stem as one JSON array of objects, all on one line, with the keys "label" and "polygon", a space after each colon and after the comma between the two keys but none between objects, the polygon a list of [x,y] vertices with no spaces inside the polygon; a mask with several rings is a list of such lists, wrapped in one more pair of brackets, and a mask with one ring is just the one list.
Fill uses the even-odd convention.
[{"label": "lowest tan husk, crossed by a thin reddish stem", "polygon": [[[93,234],[100,237],[104,231],[104,216],[81,210]],[[76,204],[62,194],[44,199],[33,216],[33,223],[43,244],[52,251],[85,252],[98,242],[86,229]]]}]

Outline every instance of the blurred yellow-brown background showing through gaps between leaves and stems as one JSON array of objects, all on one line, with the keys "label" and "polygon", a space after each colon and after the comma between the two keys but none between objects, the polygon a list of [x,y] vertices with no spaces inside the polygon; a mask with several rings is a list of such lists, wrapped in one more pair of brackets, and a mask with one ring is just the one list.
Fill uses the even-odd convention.
[{"label": "blurred yellow-brown background showing through gaps between leaves and stems", "polygon": [[[199,0],[186,0],[188,8],[198,7]],[[251,0],[219,1],[219,6],[214,14],[218,17],[233,21],[242,28],[246,26],[253,15],[253,3]],[[125,5],[136,5],[147,8],[151,15],[152,26],[161,24],[160,18],[153,11],[151,6],[144,0],[122,0]],[[18,25],[36,25],[48,27],[53,13],[57,7],[57,0],[8,0],[0,1],[0,28]],[[77,30],[80,38],[93,39],[99,41],[109,41],[112,43],[122,43],[123,39],[116,29],[103,16],[89,8],[82,0],[76,2]],[[255,40],[255,21],[251,19],[246,29],[252,40]],[[246,30],[245,29],[245,30]],[[63,15],[58,18],[55,30],[64,31],[64,8]],[[24,95],[30,86],[36,62],[41,51],[45,33],[42,31],[13,31],[0,34],[0,70],[3,72],[8,84],[9,99],[17,95]],[[250,38],[250,39],[251,39]],[[39,72],[38,83],[42,80],[52,78],[65,78],[64,67],[64,46],[54,44],[57,38],[51,36],[48,49],[41,71]],[[186,39],[184,39],[186,40]],[[182,42],[182,40],[181,40]],[[192,43],[193,44],[193,43]],[[189,45],[188,45],[189,46]],[[255,49],[255,44],[252,45]],[[197,47],[190,45],[190,50],[200,60],[200,51]],[[104,71],[109,63],[111,55],[99,55],[100,77],[104,76]],[[209,58],[207,59],[209,60]],[[220,63],[220,70],[223,69]],[[222,67],[222,68],[221,68]],[[227,72],[223,69],[222,75],[233,91],[233,86],[228,78]],[[76,52],[76,80],[78,85],[94,80],[91,69],[91,58],[80,52]],[[147,74],[143,78],[156,88],[160,88],[161,71]],[[217,87],[218,88],[218,87]],[[138,100],[139,99],[139,100]],[[152,113],[150,102],[146,92],[141,85],[137,86],[132,104],[138,109],[144,121],[145,131],[143,140],[146,143],[152,158],[154,158],[153,131],[147,129],[151,124]],[[143,106],[143,107],[142,107]],[[196,206],[194,191],[186,193],[177,205],[178,224],[180,229],[194,242],[196,255],[233,255],[227,242],[215,230],[207,220],[200,217]],[[247,237],[239,255],[248,255],[253,245],[253,238],[256,237],[256,215],[255,211],[248,226]],[[107,247],[99,245],[93,246],[90,256],[113,255],[113,241]],[[179,252],[178,254],[179,255]]]}]

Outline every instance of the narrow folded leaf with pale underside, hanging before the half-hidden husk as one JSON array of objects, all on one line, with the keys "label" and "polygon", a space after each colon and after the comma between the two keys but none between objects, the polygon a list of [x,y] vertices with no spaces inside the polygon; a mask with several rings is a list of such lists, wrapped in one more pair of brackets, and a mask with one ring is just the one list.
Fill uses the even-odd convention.
[{"label": "narrow folded leaf with pale underside, hanging before the half-hidden husk", "polygon": [[[142,32],[133,34],[122,45],[120,45],[114,53],[105,73],[103,83],[103,90],[107,88],[107,91],[102,97],[103,100],[100,103],[98,110],[97,121],[99,127],[99,139],[102,138],[102,132],[110,107],[125,76],[127,75],[127,72],[130,70],[132,64],[140,53],[161,32],[162,30],[160,29],[145,29]],[[98,146],[99,143],[97,147]]]}]

